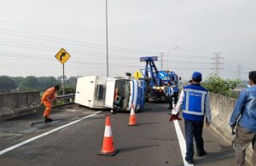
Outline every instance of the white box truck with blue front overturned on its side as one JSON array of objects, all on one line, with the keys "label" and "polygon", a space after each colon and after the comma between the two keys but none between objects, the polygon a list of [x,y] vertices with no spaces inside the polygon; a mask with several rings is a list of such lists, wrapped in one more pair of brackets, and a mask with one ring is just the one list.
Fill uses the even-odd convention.
[{"label": "white box truck with blue front overturned on its side", "polygon": [[87,76],[79,77],[75,103],[90,108],[110,108],[111,112],[143,109],[145,100],[143,80]]}]

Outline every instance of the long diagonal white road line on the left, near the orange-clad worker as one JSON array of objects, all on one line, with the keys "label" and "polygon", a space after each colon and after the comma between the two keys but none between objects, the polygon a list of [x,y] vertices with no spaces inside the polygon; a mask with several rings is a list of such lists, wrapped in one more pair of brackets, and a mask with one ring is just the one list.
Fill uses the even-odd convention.
[{"label": "long diagonal white road line on the left, near the orange-clad worker", "polygon": [[58,131],[58,130],[63,129],[63,128],[66,128],[67,126],[70,126],[70,125],[72,125],[72,124],[74,124],[74,123],[79,123],[80,121],[82,121],[82,120],[84,120],[84,119],[86,119],[86,118],[88,118],[88,117],[96,116],[96,114],[98,114],[98,113],[100,113],[100,112],[96,112],[96,113],[90,114],[90,115],[88,115],[88,116],[86,116],[86,117],[82,117],[82,118],[80,118],[79,120],[73,121],[72,123],[67,123],[67,124],[65,124],[65,125],[63,125],[63,126],[61,126],[61,127],[59,127],[59,128],[52,129],[52,130],[50,130],[50,131],[48,131],[48,132],[46,132],[46,133],[44,133],[44,134],[42,134],[42,135],[38,135],[38,136],[32,137],[32,138],[29,139],[29,140],[24,140],[24,141],[20,142],[19,144],[16,144],[15,146],[10,146],[10,147],[8,147],[8,148],[6,148],[6,149],[3,149],[3,151],[0,151],[0,156],[3,155],[3,154],[6,153],[6,152],[9,152],[9,151],[14,150],[14,149],[17,148],[17,147],[24,146],[24,145],[26,145],[27,143],[32,142],[33,140],[38,140],[39,138],[41,138],[41,137],[43,137],[43,136],[45,136],[45,135],[49,135],[49,134],[51,134],[51,133],[54,133],[55,131]]}]

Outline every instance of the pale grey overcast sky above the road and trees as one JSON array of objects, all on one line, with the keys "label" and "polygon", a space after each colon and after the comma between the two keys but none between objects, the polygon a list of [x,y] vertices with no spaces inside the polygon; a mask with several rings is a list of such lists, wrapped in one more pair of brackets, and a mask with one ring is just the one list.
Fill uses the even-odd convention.
[{"label": "pale grey overcast sky above the road and trees", "polygon": [[[71,54],[67,77],[106,76],[105,5],[1,0],[0,76],[61,76],[55,59],[61,48]],[[247,79],[256,70],[255,20],[255,0],[108,0],[109,75],[134,73],[145,66],[139,57],[160,60],[163,53],[163,69],[168,65],[183,79],[194,71],[206,78],[221,52],[220,76]],[[161,69],[160,61],[156,66]]]}]

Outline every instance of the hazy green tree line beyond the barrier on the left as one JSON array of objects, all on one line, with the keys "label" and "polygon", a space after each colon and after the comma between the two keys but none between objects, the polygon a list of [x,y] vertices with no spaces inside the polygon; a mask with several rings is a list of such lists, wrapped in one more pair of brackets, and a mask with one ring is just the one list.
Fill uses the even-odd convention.
[{"label": "hazy green tree line beyond the barrier on the left", "polygon": [[[76,88],[77,77],[65,77],[66,91],[73,93]],[[9,77],[0,76],[0,92],[17,92],[17,91],[44,91],[56,84],[62,84],[60,77]],[[66,94],[68,94],[68,92]]]}]

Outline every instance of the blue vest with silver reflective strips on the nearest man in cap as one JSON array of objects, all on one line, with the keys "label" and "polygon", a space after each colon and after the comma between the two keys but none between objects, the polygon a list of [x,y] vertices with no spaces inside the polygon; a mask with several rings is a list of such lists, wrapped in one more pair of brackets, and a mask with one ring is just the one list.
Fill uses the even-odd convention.
[{"label": "blue vest with silver reflective strips on the nearest man in cap", "polygon": [[200,84],[191,84],[183,88],[183,117],[190,121],[203,121],[207,89]]}]

